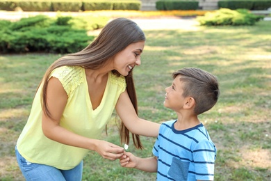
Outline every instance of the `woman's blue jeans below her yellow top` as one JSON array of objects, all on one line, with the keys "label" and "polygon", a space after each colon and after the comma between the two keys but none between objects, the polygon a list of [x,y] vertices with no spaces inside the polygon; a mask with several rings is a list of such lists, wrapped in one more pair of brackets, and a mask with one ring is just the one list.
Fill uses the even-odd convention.
[{"label": "woman's blue jeans below her yellow top", "polygon": [[22,155],[19,154],[17,148],[15,148],[17,162],[19,168],[21,169],[24,178],[28,180],[38,180],[38,181],[80,181],[82,180],[83,174],[83,161],[80,164],[70,170],[60,170],[53,166],[48,166],[44,164],[33,164],[28,162]]}]

